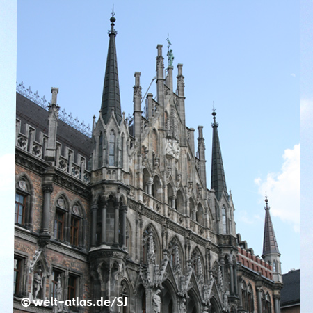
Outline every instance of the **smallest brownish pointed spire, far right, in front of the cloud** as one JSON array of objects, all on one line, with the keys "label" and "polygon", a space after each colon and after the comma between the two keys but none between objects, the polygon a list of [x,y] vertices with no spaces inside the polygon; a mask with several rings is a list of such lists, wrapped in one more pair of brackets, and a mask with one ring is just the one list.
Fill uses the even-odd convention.
[{"label": "smallest brownish pointed spire, far right, in front of the cloud", "polygon": [[280,253],[278,250],[278,244],[275,237],[274,227],[271,220],[270,207],[268,206],[268,198],[265,196],[265,225],[264,225],[264,241],[263,241],[263,255],[269,255],[272,253]]}]

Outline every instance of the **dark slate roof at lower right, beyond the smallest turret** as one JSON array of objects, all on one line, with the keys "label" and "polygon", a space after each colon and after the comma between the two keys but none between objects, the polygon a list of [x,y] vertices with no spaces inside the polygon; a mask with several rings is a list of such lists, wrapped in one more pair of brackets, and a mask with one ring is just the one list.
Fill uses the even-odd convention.
[{"label": "dark slate roof at lower right, beyond the smallest turret", "polygon": [[282,275],[282,282],[280,306],[300,304],[300,269]]}]

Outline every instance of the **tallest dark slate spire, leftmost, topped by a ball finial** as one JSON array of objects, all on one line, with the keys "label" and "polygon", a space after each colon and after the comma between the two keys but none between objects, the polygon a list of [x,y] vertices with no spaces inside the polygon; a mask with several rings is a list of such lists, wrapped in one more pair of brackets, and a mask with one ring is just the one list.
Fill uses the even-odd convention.
[{"label": "tallest dark slate spire, leftmost, topped by a ball finial", "polygon": [[106,74],[104,77],[101,112],[104,122],[107,123],[111,117],[112,111],[114,111],[115,118],[120,124],[122,114],[120,109],[120,86],[118,83],[118,58],[116,56],[115,47],[115,36],[118,32],[114,29],[115,13],[113,10],[111,15],[111,30],[108,32],[110,41],[108,58],[106,59]]}]

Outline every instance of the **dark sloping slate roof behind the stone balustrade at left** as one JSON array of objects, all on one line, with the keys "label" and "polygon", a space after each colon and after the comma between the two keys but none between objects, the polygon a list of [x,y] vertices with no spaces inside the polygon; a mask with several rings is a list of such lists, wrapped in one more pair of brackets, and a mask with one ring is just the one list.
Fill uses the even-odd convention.
[{"label": "dark sloping slate roof behind the stone balustrade at left", "polygon": [[[36,141],[39,140],[40,131],[48,135],[48,111],[19,93],[16,93],[16,117],[21,120],[21,132],[23,134],[25,134],[27,123],[36,129]],[[91,138],[88,136],[62,120],[58,120],[56,140],[62,144],[63,151],[61,154],[64,155],[63,152],[67,146],[74,151],[76,157],[79,153],[88,161],[91,153]]]}]

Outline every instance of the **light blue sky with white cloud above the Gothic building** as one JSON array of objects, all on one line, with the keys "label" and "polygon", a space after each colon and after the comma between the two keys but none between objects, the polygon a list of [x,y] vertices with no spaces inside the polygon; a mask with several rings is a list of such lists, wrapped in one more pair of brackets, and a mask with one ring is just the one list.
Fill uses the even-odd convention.
[{"label": "light blue sky with white cloud above the Gothic building", "polygon": [[[6,129],[7,150],[1,150],[0,158],[13,172],[15,70],[18,83],[23,81],[47,100],[51,87],[58,87],[61,110],[91,125],[101,106],[112,4],[25,0],[16,9],[15,1],[3,0],[1,6],[6,7],[6,13],[0,10],[5,15],[1,30],[6,27],[1,40],[11,49],[1,52],[8,60],[1,66],[11,66],[3,79],[11,86],[11,97],[3,99],[8,117],[1,134]],[[134,72],[141,72],[143,95],[147,91],[156,74],[158,44],[163,45],[168,65],[169,36],[174,77],[177,64],[183,64],[186,124],[194,129],[204,126],[208,187],[214,102],[227,188],[236,208],[236,232],[255,255],[262,255],[267,194],[283,273],[300,268],[299,97],[303,120],[310,121],[313,90],[311,63],[299,62],[303,55],[309,59],[302,50],[300,55],[299,45],[310,38],[311,30],[299,36],[299,25],[303,27],[299,17],[309,23],[311,8],[312,1],[301,2],[300,9],[299,2],[291,0],[160,0],[157,5],[114,1],[122,111],[126,115],[133,111]],[[306,73],[301,72],[301,79],[300,70]],[[154,83],[149,91],[156,95]],[[310,130],[310,122],[306,125]],[[14,176],[6,177],[13,199]],[[8,205],[13,207],[13,202]]]}]

